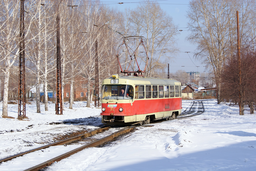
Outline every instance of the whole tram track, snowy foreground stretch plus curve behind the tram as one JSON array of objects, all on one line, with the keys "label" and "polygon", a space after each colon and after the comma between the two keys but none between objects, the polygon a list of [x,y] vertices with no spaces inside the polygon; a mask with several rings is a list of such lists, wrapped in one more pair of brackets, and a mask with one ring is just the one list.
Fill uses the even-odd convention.
[{"label": "whole tram track, snowy foreground stretch plus curve behind the tram", "polygon": [[[196,116],[204,112],[204,106],[202,104],[202,101],[193,101],[193,104],[191,105],[191,107],[188,110],[187,109],[183,111],[177,117],[177,119]],[[162,122],[162,121],[159,120],[157,122]],[[90,132],[87,132],[78,136],[74,136],[69,139],[58,141],[52,144],[48,144],[48,145],[33,149],[33,150],[29,150],[23,153],[19,153],[10,157],[3,158],[0,160],[0,164],[10,159],[14,159],[12,162],[15,163],[15,158],[21,156],[25,158],[24,159],[19,158],[19,160],[27,161],[27,159],[29,158],[34,158],[38,163],[36,166],[34,166],[35,162],[31,162],[31,167],[30,167],[29,162],[26,162],[26,166],[24,167],[23,165],[24,169],[21,168],[22,170],[39,170],[51,165],[54,162],[60,161],[63,158],[67,158],[70,155],[75,154],[83,149],[86,149],[88,147],[95,147],[107,141],[110,141],[111,139],[119,135],[130,132],[136,127],[137,126],[128,126],[128,127],[103,126],[101,128],[92,130]],[[66,148],[64,150],[62,149],[62,154],[59,155],[60,149],[55,147],[57,145],[64,145],[65,147],[68,146],[69,148]],[[55,156],[55,157],[52,158],[52,156]]]}]

